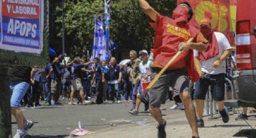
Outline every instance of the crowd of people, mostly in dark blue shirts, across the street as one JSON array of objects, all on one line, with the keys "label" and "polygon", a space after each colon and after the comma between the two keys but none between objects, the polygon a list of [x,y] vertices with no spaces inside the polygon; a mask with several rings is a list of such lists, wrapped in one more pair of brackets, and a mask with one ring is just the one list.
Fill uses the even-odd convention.
[{"label": "crowd of people, mostly in dark blue shirts, across the street", "polygon": [[43,106],[52,106],[63,100],[69,100],[69,105],[121,103],[123,99],[133,101],[133,114],[140,102],[148,110],[148,95],[142,92],[141,80],[150,81],[152,61],[148,62],[146,50],[137,57],[135,50],[130,51],[130,60],[121,64],[114,57],[109,61],[89,56],[69,61],[63,55],[52,57],[45,68],[32,68],[30,86],[20,105],[40,107],[43,102],[39,101],[44,101]]}]

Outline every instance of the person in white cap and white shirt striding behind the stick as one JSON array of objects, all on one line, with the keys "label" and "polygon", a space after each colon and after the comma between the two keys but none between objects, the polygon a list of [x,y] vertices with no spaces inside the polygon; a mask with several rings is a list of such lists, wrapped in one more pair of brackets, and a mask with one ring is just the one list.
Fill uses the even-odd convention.
[{"label": "person in white cap and white shirt striding behind the stick", "polygon": [[[153,64],[153,62],[148,60],[148,52],[146,50],[142,50],[139,53],[140,53],[140,56],[142,56],[142,62],[140,62],[139,64],[140,78],[141,78],[140,80],[141,80],[141,83],[149,83],[151,82],[151,77],[150,77],[152,75],[151,65]],[[137,93],[135,109],[129,111],[129,113],[131,113],[132,115],[139,115],[139,107],[140,107],[140,103],[142,102],[142,95],[144,97],[147,97],[148,93],[146,92]]]}]

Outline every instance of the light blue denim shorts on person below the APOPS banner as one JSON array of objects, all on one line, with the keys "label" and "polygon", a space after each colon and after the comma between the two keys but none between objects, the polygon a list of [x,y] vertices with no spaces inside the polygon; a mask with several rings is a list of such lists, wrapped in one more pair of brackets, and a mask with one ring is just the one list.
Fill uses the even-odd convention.
[{"label": "light blue denim shorts on person below the APOPS banner", "polygon": [[20,101],[26,94],[30,85],[27,82],[11,82],[10,94],[11,94],[11,107],[20,107]]}]

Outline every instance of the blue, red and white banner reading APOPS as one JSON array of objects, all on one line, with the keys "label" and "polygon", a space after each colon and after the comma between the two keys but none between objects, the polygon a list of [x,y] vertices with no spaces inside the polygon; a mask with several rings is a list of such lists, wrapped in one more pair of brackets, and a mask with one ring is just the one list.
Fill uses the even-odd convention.
[{"label": "blue, red and white banner reading APOPS", "polygon": [[43,1],[0,1],[0,49],[41,53],[43,48]]}]

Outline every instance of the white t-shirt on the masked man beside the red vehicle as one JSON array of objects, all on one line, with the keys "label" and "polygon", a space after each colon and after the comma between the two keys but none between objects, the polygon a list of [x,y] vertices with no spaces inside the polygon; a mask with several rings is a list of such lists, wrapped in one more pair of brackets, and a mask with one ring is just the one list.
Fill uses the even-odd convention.
[{"label": "white t-shirt on the masked man beside the red vehicle", "polygon": [[[200,61],[202,71],[208,74],[226,73],[226,60],[220,62],[219,67],[210,68],[213,62],[219,59],[225,50],[231,49],[228,39],[225,37],[224,34],[222,34],[221,32],[214,32],[214,35],[216,36],[217,42],[219,44],[219,55],[213,58],[207,59],[206,61]],[[197,50],[194,50],[194,56],[198,56]],[[208,68],[210,69],[208,70]]]}]

